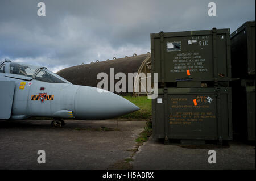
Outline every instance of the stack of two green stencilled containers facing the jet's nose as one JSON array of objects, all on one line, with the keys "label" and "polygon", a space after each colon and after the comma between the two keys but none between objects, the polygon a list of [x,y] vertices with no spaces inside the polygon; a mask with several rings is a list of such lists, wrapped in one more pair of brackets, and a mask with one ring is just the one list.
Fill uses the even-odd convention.
[{"label": "stack of two green stencilled containers facing the jet's nose", "polygon": [[155,138],[181,144],[232,140],[229,29],[151,34]]}]

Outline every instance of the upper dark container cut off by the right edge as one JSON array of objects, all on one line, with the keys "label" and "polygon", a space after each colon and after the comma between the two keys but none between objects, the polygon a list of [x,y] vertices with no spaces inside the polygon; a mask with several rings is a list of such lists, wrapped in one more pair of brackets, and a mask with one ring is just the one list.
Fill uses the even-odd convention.
[{"label": "upper dark container cut off by the right edge", "polygon": [[230,35],[230,40],[232,76],[255,76],[255,21],[242,24]]}]

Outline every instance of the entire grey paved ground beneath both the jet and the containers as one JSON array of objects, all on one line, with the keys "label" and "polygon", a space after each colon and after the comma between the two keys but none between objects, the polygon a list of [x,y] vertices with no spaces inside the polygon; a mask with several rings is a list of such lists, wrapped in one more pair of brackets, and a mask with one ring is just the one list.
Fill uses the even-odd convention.
[{"label": "entire grey paved ground beneath both the jet and the containers", "polygon": [[[51,120],[0,121],[0,169],[255,169],[255,146],[241,142],[195,148],[150,137],[138,147],[146,121],[65,122],[52,128]],[[46,152],[45,164],[38,150]],[[209,150],[216,151],[215,164],[208,163]]]}]

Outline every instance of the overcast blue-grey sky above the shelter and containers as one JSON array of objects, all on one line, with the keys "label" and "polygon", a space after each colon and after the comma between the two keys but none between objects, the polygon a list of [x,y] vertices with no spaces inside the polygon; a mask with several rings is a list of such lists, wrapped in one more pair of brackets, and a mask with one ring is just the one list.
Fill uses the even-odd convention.
[{"label": "overcast blue-grey sky above the shelter and containers", "polygon": [[[38,3],[46,16],[38,16]],[[208,16],[215,2],[217,16]],[[0,0],[0,60],[57,71],[150,52],[150,33],[230,28],[255,20],[255,0]]]}]

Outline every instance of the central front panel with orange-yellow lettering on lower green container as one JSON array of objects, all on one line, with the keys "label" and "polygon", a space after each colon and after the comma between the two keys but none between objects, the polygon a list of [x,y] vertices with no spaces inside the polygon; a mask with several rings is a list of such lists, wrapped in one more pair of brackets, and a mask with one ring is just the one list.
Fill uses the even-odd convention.
[{"label": "central front panel with orange-yellow lettering on lower green container", "polygon": [[169,138],[216,139],[217,97],[215,94],[168,95]]}]

